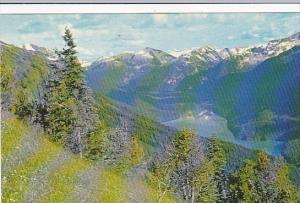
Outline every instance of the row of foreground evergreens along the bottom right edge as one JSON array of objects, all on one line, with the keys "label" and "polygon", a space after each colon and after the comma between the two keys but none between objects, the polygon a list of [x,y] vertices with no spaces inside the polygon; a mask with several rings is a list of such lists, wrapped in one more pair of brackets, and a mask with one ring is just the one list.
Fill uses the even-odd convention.
[{"label": "row of foreground evergreens along the bottom right edge", "polygon": [[231,173],[226,170],[227,161],[216,135],[204,144],[192,131],[183,129],[152,167],[157,202],[163,202],[167,194],[179,195],[186,203],[300,201],[283,158],[270,158],[260,151],[256,159],[245,160]]}]

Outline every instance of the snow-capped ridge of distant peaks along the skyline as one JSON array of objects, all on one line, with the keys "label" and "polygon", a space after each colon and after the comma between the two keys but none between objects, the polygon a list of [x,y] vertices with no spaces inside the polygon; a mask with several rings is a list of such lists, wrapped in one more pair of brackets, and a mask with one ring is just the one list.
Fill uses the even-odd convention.
[{"label": "snow-capped ridge of distant peaks along the skyline", "polygon": [[[214,65],[222,60],[238,60],[239,68],[253,67],[264,60],[279,55],[300,44],[300,32],[290,37],[271,40],[264,44],[237,48],[214,48],[195,47],[187,50],[172,50],[165,53],[158,49],[146,47],[138,52],[123,52],[117,56],[102,57],[95,63],[112,63],[115,60],[126,61],[135,66],[143,66],[149,63],[154,57],[161,63],[178,61],[178,64],[192,64],[194,67],[200,65]],[[180,66],[180,65],[178,65]],[[196,69],[194,69],[196,70]],[[196,70],[197,71],[197,70]]]}]

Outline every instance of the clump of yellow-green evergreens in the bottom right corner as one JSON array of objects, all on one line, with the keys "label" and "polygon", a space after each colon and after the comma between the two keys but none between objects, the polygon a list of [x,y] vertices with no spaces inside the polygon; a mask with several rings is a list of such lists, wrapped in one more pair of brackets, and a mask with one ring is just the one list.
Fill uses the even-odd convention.
[{"label": "clump of yellow-green evergreens in the bottom right corner", "polygon": [[271,161],[265,152],[256,161],[246,160],[231,183],[229,202],[296,202],[288,166],[281,159]]}]

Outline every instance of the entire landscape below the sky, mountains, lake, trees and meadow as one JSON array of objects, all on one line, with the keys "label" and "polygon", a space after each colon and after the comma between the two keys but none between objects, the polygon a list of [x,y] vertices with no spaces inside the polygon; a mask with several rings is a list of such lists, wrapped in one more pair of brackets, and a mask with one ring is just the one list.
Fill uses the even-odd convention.
[{"label": "entire landscape below the sky, mountains, lake, trees and meadow", "polygon": [[300,33],[91,64],[64,40],[0,41],[4,202],[298,202]]}]

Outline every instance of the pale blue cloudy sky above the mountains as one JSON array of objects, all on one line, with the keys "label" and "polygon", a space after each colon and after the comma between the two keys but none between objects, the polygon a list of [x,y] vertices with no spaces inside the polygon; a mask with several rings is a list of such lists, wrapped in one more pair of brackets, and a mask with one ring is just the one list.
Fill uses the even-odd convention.
[{"label": "pale blue cloudy sky above the mountains", "polygon": [[151,47],[245,47],[300,32],[300,13],[0,15],[0,40],[61,49],[73,32],[81,60]]}]

